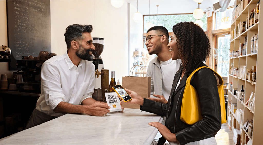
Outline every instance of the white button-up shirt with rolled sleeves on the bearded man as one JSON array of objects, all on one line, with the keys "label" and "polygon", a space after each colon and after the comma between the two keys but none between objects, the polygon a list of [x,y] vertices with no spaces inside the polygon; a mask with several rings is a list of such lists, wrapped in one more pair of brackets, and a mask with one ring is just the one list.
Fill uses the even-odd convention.
[{"label": "white button-up shirt with rolled sleeves on the bearded man", "polygon": [[41,68],[41,94],[37,101],[37,110],[51,115],[60,102],[80,105],[83,100],[92,97],[94,92],[95,66],[90,61],[81,60],[78,67],[64,55],[54,56],[45,61]]}]

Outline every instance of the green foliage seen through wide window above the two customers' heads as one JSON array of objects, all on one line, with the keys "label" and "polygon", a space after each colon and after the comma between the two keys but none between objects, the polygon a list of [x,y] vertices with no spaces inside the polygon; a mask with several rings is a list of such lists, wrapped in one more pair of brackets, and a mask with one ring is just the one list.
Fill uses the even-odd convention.
[{"label": "green foliage seen through wide window above the two customers' heads", "polygon": [[[149,19],[150,17],[150,19]],[[204,14],[203,18],[200,19],[203,22],[202,29],[206,31],[207,18]],[[193,14],[176,14],[176,15],[154,15],[154,16],[144,16],[144,33],[148,30],[146,29],[146,23],[152,22],[154,26],[164,26],[168,32],[172,32],[172,28],[175,24],[180,22],[195,22],[196,19]]]}]

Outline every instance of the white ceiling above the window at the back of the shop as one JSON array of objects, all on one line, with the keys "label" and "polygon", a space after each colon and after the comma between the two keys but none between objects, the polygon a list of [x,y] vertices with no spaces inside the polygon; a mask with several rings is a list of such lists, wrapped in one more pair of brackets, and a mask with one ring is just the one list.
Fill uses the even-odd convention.
[{"label": "white ceiling above the window at the back of the shop", "polygon": [[[136,0],[125,0],[131,3],[135,8],[137,8]],[[219,2],[219,0],[204,0],[200,4],[200,8],[205,11],[207,8],[211,7],[213,11],[213,4]],[[198,8],[198,3],[193,0],[150,0],[150,14],[179,14],[179,13],[193,13],[195,9]],[[229,6],[234,5],[234,0],[231,0]],[[138,12],[142,15],[149,15],[149,0],[138,0]]]}]

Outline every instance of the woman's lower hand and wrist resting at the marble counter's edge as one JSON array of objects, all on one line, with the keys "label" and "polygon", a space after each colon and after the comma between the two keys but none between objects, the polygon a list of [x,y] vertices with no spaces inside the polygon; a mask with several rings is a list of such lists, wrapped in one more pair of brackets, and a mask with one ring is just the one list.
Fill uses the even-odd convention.
[{"label": "woman's lower hand and wrist resting at the marble counter's edge", "polygon": [[149,125],[156,127],[161,135],[169,142],[177,142],[175,134],[171,133],[170,130],[159,122],[150,122]]}]

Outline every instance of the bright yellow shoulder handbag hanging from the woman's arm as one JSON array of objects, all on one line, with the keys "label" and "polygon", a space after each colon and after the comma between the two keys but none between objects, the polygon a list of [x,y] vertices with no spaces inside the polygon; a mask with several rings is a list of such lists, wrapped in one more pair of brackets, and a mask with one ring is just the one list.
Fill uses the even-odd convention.
[{"label": "bright yellow shoulder handbag hanging from the woman's arm", "polygon": [[[199,67],[186,80],[186,86],[184,89],[184,95],[182,100],[181,106],[181,121],[185,122],[186,124],[194,124],[199,120],[202,120],[203,117],[201,115],[201,106],[200,100],[195,88],[190,85],[191,77],[194,75],[201,68],[209,68],[206,66]],[[211,68],[209,68],[211,69]],[[226,111],[225,111],[225,97],[224,97],[224,83],[221,76],[216,73],[213,69],[211,69],[216,76],[219,78],[219,84],[217,85],[218,93],[220,97],[220,106],[221,106],[221,121],[222,123],[226,123]]]}]

